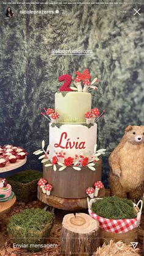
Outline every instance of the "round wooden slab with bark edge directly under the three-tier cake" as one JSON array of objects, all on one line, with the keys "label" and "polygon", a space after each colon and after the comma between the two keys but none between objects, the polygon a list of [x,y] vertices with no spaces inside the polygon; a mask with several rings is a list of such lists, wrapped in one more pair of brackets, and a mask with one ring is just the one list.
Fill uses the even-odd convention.
[{"label": "round wooden slab with bark edge directly under the three-tier cake", "polygon": [[[99,190],[98,197],[104,197],[105,196],[105,189]],[[40,187],[37,189],[37,197],[38,199],[45,203],[46,205],[49,205],[54,208],[58,208],[61,210],[84,210],[88,208],[87,205],[87,198],[82,199],[66,199],[56,196],[47,196],[46,194],[43,194]]]}]

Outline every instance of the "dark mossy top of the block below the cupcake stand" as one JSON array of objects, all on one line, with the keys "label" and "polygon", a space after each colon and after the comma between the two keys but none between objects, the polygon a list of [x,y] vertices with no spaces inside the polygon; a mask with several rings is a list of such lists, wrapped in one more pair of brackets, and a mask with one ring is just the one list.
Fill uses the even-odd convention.
[{"label": "dark mossy top of the block below the cupcake stand", "polygon": [[41,172],[38,172],[38,170],[24,170],[24,172],[20,172],[19,174],[15,174],[9,177],[9,180],[19,181],[23,184],[26,184],[41,178],[41,175]]}]

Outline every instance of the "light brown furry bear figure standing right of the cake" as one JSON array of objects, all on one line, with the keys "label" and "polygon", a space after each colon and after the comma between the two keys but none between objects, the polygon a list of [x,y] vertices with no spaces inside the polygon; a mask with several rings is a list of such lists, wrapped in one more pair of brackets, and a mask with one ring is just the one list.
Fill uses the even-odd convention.
[{"label": "light brown furry bear figure standing right of the cake", "polygon": [[110,196],[142,199],[144,192],[144,125],[129,125],[109,157]]}]

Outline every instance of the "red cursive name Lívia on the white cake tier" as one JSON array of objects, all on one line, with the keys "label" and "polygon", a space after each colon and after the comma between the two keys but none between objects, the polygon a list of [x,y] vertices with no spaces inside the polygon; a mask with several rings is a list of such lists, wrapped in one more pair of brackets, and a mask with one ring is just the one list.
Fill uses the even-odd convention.
[{"label": "red cursive name L\u00edvia on the white cake tier", "polygon": [[[77,137],[77,140],[79,140],[79,137]],[[55,148],[62,148],[62,149],[84,149],[85,148],[85,141],[70,141],[70,138],[68,137],[68,134],[66,132],[63,132],[60,136],[59,143],[54,144]]]}]

